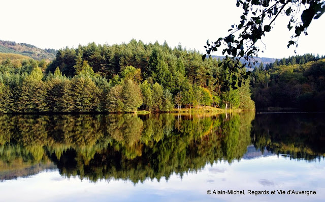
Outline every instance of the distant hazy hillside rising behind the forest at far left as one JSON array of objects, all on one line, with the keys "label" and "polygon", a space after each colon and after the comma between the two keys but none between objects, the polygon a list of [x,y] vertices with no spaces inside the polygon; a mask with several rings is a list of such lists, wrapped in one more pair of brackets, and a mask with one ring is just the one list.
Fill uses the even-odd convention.
[{"label": "distant hazy hillside rising behind the forest at far left", "polygon": [[35,60],[45,59],[48,61],[52,61],[55,58],[57,50],[41,49],[26,43],[16,43],[12,41],[0,40],[0,52],[26,55]]}]

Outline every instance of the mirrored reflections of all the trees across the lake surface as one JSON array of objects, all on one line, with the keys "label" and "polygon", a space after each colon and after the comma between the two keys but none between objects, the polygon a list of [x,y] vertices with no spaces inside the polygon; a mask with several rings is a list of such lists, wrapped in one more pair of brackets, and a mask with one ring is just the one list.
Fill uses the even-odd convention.
[{"label": "mirrored reflections of all the trees across the lake surface", "polygon": [[[251,138],[256,148],[267,147],[277,153],[298,139],[291,153],[300,148],[305,151],[300,158],[306,159],[323,154],[322,147],[313,147],[318,134],[310,133],[314,123],[301,121],[299,131],[303,133],[288,131],[288,136],[282,135],[280,123],[275,123],[276,131],[274,120],[266,117],[254,121],[251,133],[254,118],[254,112],[190,116],[5,114],[0,116],[0,176],[4,171],[52,161],[68,178],[159,181],[174,173],[197,172],[218,160],[240,160]],[[307,133],[314,136],[307,139]]]}]

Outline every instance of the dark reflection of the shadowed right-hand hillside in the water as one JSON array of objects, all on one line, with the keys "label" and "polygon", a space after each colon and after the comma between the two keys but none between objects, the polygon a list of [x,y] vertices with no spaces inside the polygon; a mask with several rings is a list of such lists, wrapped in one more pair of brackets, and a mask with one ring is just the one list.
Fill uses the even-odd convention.
[{"label": "dark reflection of the shadowed right-hand hillside in the water", "polygon": [[258,114],[253,122],[255,148],[265,148],[289,158],[315,160],[325,157],[323,113]]}]

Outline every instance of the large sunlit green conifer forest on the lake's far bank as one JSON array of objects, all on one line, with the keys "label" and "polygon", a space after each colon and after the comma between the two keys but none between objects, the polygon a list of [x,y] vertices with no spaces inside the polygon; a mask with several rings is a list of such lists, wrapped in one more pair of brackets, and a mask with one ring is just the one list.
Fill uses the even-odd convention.
[{"label": "large sunlit green conifer forest on the lake's far bank", "polygon": [[[222,92],[211,74],[223,74],[220,61],[197,51],[132,40],[121,45],[59,50],[44,63],[25,60],[0,66],[0,112],[171,111],[214,106],[253,109],[249,82]],[[209,75],[210,74],[210,75]]]}]

